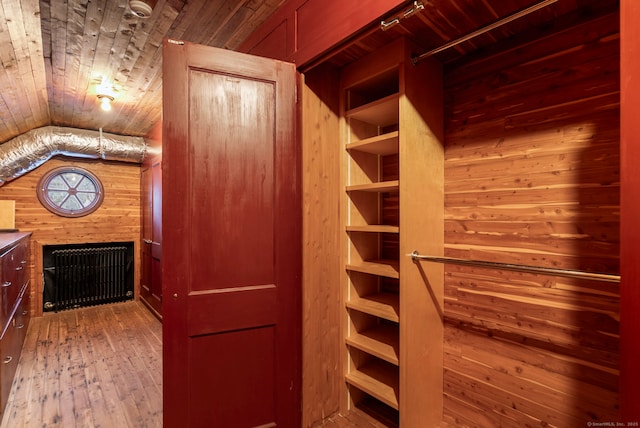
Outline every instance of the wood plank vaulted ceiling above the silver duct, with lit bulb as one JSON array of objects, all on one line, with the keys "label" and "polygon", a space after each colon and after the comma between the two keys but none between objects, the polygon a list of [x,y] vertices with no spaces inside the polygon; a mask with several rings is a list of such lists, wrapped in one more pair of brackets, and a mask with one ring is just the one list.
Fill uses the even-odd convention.
[{"label": "wood plank vaulted ceiling above the silver duct, with lit bulb", "polygon": [[[162,39],[234,49],[283,0],[0,0],[0,143],[45,125],[144,136],[162,106]],[[108,82],[113,109],[99,109]]]}]

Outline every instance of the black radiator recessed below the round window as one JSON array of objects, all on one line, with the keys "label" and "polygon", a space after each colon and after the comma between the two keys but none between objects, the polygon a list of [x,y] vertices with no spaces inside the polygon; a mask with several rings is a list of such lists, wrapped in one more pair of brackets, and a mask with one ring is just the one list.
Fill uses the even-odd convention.
[{"label": "black radiator recessed below the round window", "polygon": [[133,299],[129,253],[127,246],[51,250],[50,266],[44,267],[43,310],[60,311]]}]

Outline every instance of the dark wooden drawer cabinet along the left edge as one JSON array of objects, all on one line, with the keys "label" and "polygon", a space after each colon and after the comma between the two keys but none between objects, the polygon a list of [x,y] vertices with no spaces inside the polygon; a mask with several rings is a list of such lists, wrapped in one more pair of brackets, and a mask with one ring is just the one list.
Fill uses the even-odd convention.
[{"label": "dark wooden drawer cabinet along the left edge", "polygon": [[0,234],[0,412],[11,392],[31,317],[29,235]]}]

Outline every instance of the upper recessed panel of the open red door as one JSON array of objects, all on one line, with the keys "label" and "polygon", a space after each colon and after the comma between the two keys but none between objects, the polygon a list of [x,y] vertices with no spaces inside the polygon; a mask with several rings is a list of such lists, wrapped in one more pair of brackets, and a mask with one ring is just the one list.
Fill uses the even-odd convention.
[{"label": "upper recessed panel of the open red door", "polygon": [[192,291],[272,284],[273,84],[201,70],[189,80],[191,105],[207,106],[190,110],[190,158],[202,160],[190,165],[191,236],[209,248],[192,255]]}]

